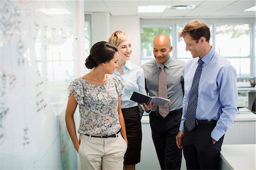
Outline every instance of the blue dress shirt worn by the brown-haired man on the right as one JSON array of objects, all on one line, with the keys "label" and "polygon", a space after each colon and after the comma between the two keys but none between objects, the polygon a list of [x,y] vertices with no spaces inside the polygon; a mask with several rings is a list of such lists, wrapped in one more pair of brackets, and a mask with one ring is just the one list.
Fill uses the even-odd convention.
[{"label": "blue dress shirt worn by the brown-haired man on the right", "polygon": [[[183,132],[189,92],[199,59],[196,57],[189,60],[184,69],[185,94],[180,122],[180,131]],[[213,47],[202,60],[204,64],[199,82],[196,119],[216,120],[217,125],[210,136],[218,141],[228,130],[238,113],[237,73],[229,61],[219,55]]]}]

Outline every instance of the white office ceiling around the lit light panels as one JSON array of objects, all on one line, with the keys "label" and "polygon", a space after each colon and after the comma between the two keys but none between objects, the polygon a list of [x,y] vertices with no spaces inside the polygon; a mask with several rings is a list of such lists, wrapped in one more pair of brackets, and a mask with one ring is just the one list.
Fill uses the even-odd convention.
[{"label": "white office ceiling around the lit light panels", "polygon": [[[138,6],[168,5],[162,13],[138,13]],[[177,10],[172,6],[196,5],[195,9]],[[144,1],[144,0],[84,0],[85,14],[107,12],[115,15],[138,15],[141,18],[247,18],[255,11],[243,11],[255,6],[255,0],[204,1]]]}]

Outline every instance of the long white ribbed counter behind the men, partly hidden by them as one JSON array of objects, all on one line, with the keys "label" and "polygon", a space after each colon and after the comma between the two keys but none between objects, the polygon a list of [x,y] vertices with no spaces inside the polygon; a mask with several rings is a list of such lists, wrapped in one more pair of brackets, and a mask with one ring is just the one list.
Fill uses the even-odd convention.
[{"label": "long white ribbed counter behind the men, partly hidden by them", "polygon": [[[142,119],[142,150],[141,162],[136,165],[138,170],[160,169],[156,156],[154,143],[152,142],[151,128],[148,115]],[[225,134],[225,144],[255,144],[256,143],[256,115],[250,112],[237,114],[234,123]],[[247,156],[246,156],[247,157]],[[186,169],[185,160],[181,162],[181,169]]]}]

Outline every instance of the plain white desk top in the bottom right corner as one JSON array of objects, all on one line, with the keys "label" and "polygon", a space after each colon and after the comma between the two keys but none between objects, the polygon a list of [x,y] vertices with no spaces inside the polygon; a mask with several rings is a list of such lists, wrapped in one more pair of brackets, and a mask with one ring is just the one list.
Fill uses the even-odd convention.
[{"label": "plain white desk top in the bottom right corner", "polygon": [[221,147],[221,169],[256,169],[256,144],[228,144]]}]

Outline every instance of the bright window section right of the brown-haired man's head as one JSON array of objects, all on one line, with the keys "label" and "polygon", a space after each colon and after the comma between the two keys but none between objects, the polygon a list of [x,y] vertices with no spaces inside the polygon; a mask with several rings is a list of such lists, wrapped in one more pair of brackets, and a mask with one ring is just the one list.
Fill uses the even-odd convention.
[{"label": "bright window section right of the brown-haired man's head", "polygon": [[216,24],[216,51],[236,68],[237,77],[250,76],[249,24]]}]

